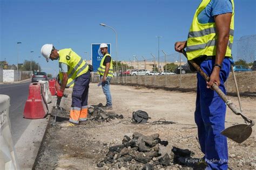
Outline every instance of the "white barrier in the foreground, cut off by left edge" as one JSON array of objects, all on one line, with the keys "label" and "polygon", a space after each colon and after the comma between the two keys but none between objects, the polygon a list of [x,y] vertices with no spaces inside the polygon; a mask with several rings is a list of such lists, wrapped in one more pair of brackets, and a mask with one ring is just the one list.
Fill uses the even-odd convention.
[{"label": "white barrier in the foreground, cut off by left edge", "polygon": [[0,169],[19,169],[11,137],[10,97],[0,95]]}]

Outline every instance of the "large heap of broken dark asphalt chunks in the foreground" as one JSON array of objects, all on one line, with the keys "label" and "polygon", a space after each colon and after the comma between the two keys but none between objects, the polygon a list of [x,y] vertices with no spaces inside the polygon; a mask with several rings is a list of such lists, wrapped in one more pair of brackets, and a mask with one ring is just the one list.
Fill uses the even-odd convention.
[{"label": "large heap of broken dark asphalt chunks in the foreground", "polygon": [[121,145],[109,147],[109,152],[97,167],[156,169],[174,164],[192,167],[186,159],[191,159],[193,154],[189,150],[171,146],[168,141],[160,140],[157,133],[144,136],[134,132],[132,139],[124,136]]}]

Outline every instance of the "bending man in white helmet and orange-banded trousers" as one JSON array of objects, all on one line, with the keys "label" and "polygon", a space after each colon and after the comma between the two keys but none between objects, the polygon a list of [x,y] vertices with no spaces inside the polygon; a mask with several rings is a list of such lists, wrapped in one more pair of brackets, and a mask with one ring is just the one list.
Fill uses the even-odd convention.
[{"label": "bending man in white helmet and orange-banded trousers", "polygon": [[79,122],[86,121],[91,76],[89,66],[71,48],[57,50],[52,44],[45,44],[41,48],[41,53],[47,62],[49,59],[59,60],[61,84],[57,89],[57,97],[61,98],[65,88],[73,85],[69,123],[64,123],[62,126],[74,126]]}]

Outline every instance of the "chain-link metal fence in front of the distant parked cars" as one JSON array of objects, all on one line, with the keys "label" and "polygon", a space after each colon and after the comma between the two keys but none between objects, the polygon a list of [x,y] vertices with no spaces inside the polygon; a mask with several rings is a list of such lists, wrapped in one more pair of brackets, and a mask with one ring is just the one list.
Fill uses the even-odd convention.
[{"label": "chain-link metal fence in front of the distant parked cars", "polygon": [[[164,54],[164,53],[163,53]],[[235,40],[232,47],[232,55],[233,60],[235,61],[235,65],[242,66],[242,68],[248,69],[247,71],[238,71],[235,72],[235,76],[237,77],[239,91],[241,93],[256,93],[256,35],[244,36],[239,40]],[[180,53],[173,53],[169,55],[163,55],[159,58],[155,57],[153,54],[151,57],[145,58],[144,60],[139,60],[138,57],[134,57],[133,62],[134,68],[143,68],[142,65],[144,61],[152,61],[154,66],[157,65],[157,68],[161,70],[171,70],[174,72],[174,69],[184,65],[187,62],[185,56]],[[136,65],[137,63],[137,65]],[[172,63],[173,68],[170,68],[170,65],[167,68],[166,63]],[[129,65],[129,63],[128,63]],[[146,65],[144,66],[144,68]],[[121,67],[122,68],[122,67]],[[125,71],[125,67],[117,70],[119,76],[114,76],[112,82],[114,83],[132,83],[132,84],[144,84],[147,86],[158,86],[158,87],[179,87],[179,88],[196,88],[197,87],[197,78],[195,73],[186,73],[181,74],[182,72],[178,72],[178,74],[174,75],[137,75],[137,76],[122,76]],[[147,69],[147,68],[146,68]],[[149,69],[149,70],[152,70]],[[93,75],[92,82],[99,82],[100,79],[97,75]],[[226,90],[231,93],[235,93],[235,85],[232,72],[228,77],[228,80],[225,83]]]}]

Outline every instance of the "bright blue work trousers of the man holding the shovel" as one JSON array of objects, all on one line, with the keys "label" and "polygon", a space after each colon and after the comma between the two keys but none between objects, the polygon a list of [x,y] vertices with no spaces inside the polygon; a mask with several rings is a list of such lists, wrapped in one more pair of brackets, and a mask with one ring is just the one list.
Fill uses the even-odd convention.
[{"label": "bright blue work trousers of the man holding the shovel", "polygon": [[[203,61],[201,69],[210,76],[215,60]],[[230,60],[225,58],[220,69],[219,88],[226,94],[224,82],[230,73]],[[205,154],[206,169],[227,169],[227,138],[220,132],[225,129],[226,104],[212,89],[206,88],[206,81],[197,73],[197,101],[194,113],[198,126],[201,151]]]}]

